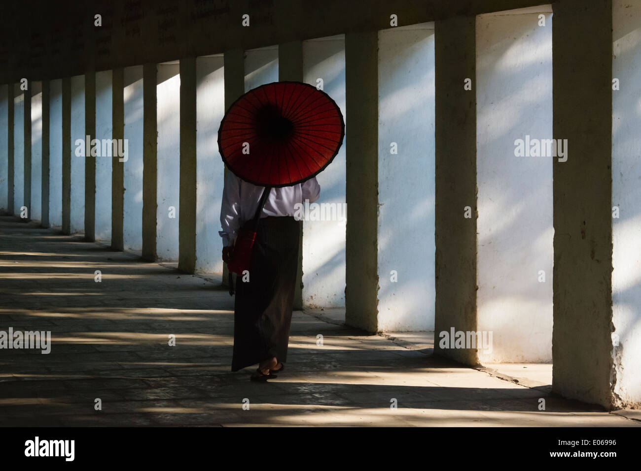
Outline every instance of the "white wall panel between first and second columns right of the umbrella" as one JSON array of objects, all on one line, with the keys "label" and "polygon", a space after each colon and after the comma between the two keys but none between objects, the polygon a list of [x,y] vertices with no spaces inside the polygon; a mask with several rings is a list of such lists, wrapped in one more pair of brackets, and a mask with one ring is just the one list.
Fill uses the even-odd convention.
[{"label": "white wall panel between first and second columns right of the umbrella", "polygon": [[378,47],[378,327],[433,330],[434,25],[379,31]]}]

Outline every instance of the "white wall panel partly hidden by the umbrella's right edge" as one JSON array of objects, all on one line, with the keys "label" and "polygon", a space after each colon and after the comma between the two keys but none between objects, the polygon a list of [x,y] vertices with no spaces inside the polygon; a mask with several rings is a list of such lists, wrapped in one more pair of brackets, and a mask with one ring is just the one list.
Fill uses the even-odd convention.
[{"label": "white wall panel partly hidden by the umbrella's right edge", "polygon": [[[345,36],[303,42],[303,80],[340,107],[345,122]],[[345,141],[328,168],[317,175],[317,203],[345,203]],[[345,214],[344,211],[341,214]],[[303,307],[345,306],[345,219],[303,222]]]}]

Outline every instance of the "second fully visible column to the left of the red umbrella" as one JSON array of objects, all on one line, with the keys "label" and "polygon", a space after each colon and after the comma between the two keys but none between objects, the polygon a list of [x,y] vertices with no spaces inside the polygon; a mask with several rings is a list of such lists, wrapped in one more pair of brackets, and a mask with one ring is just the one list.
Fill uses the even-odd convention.
[{"label": "second fully visible column to the left of the red umbrella", "polygon": [[156,77],[158,66],[147,63],[142,70],[142,258],[153,262],[156,254],[156,189],[158,188],[158,122]]}]

